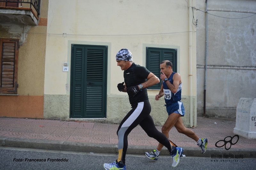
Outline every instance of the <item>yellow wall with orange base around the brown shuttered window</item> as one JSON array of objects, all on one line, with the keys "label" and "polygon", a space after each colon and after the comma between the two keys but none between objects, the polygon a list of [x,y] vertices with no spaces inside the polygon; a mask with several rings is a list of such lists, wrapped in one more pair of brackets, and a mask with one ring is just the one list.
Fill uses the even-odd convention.
[{"label": "yellow wall with orange base around the brown shuttered window", "polygon": [[1,38],[20,40],[18,95],[0,95],[1,117],[43,118],[47,12],[48,0],[42,1],[38,26],[0,25]]}]

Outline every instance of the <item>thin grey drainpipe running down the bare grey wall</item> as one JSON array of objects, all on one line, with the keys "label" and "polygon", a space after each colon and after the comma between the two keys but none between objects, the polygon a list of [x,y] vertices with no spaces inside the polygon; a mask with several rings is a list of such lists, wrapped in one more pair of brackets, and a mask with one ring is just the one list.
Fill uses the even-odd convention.
[{"label": "thin grey drainpipe running down the bare grey wall", "polygon": [[207,0],[205,0],[205,64],[204,64],[204,114],[206,113],[206,78],[207,78],[207,41],[208,41],[208,19],[207,19]]}]

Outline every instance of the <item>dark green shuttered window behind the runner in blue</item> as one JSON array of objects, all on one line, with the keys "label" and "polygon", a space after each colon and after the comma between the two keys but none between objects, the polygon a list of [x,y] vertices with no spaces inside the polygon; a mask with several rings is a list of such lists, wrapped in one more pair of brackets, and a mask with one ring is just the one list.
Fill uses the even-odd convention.
[{"label": "dark green shuttered window behind the runner in blue", "polygon": [[[160,78],[160,63],[164,60],[169,60],[172,62],[174,72],[177,72],[177,49],[168,49],[168,48],[146,48],[146,68]],[[160,83],[148,87],[148,89],[161,89],[161,79]]]}]

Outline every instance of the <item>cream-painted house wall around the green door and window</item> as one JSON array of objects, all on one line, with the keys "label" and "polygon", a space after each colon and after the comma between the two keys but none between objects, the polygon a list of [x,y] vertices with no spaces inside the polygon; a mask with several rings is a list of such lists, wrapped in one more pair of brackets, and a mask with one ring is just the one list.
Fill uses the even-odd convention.
[{"label": "cream-painted house wall around the green door and window", "polygon": [[[195,5],[196,1],[192,2]],[[59,5],[60,3],[62,5]],[[195,27],[192,27],[194,99],[196,99],[195,31]],[[142,66],[146,66],[146,47],[177,48],[178,72],[183,84],[182,96],[189,95],[188,3],[186,1],[90,0],[84,2],[77,0],[70,3],[70,1],[49,0],[47,35],[44,101],[50,99],[51,95],[70,95],[70,71],[63,72],[62,67],[64,62],[68,62],[70,67],[71,44],[108,45],[106,121],[115,122],[116,117],[120,117],[110,106],[109,100],[116,100],[113,96],[120,96],[128,102],[126,95],[116,88],[116,85],[123,81],[123,71],[117,66],[115,58],[121,48],[128,48],[132,52],[133,62]],[[148,91],[148,94],[155,96],[158,91]],[[61,105],[61,102],[58,105]],[[154,100],[151,105],[152,108],[156,107]],[[49,108],[52,106],[44,107],[44,116],[51,113]],[[129,105],[127,108],[129,110]],[[127,108],[120,107],[120,110],[125,113],[128,111]],[[189,105],[186,109],[189,110]],[[67,117],[69,111],[65,113],[57,111],[56,115],[59,114],[63,114],[61,117]],[[163,122],[165,119],[156,122]]]}]

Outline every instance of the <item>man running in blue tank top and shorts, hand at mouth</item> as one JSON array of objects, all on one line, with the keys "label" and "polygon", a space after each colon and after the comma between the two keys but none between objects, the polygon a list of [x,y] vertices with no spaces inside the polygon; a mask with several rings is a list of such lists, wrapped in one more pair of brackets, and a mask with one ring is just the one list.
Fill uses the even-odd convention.
[{"label": "man running in blue tank top and shorts, hand at mouth", "polygon": [[[162,127],[162,133],[169,138],[169,131],[173,126],[178,130],[179,133],[183,133],[188,137],[194,139],[197,145],[201,147],[202,153],[205,153],[207,146],[207,138],[199,138],[195,132],[191,129],[186,128],[183,125],[181,116],[184,116],[185,109],[181,100],[181,77],[179,73],[172,71],[172,63],[165,60],[160,63],[162,86],[159,94],[156,95],[155,100],[159,100],[160,97],[164,96],[166,103],[166,111],[168,118]],[[157,160],[162,144],[158,144],[157,148],[152,152],[145,152],[145,155],[149,159]]]}]

